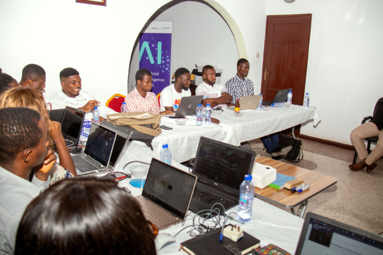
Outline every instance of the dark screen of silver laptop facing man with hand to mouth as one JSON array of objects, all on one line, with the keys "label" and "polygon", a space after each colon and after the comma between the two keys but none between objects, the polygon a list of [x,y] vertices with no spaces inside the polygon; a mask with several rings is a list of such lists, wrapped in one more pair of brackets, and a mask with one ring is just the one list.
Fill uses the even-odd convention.
[{"label": "dark screen of silver laptop facing man with hand to mouth", "polygon": [[115,139],[115,131],[92,123],[84,153],[107,166]]}]

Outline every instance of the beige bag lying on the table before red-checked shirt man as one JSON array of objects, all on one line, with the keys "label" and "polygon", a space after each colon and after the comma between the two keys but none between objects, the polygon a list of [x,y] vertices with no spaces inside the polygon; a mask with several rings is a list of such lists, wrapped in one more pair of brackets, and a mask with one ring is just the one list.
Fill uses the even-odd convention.
[{"label": "beige bag lying on the table before red-checked shirt man", "polygon": [[[129,126],[139,132],[153,136],[158,136],[162,130],[160,128],[161,116],[159,114],[150,114],[148,112],[125,112],[109,114],[107,122],[116,126]],[[152,125],[152,128],[143,125]]]}]

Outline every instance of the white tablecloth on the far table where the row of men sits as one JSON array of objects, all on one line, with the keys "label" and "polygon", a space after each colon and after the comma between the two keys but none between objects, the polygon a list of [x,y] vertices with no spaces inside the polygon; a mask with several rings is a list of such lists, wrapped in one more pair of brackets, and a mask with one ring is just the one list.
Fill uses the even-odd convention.
[{"label": "white tablecloth on the far table where the row of men sits", "polygon": [[188,116],[185,126],[176,124],[175,119],[161,118],[161,125],[172,130],[163,130],[152,141],[153,149],[158,155],[162,144],[168,143],[172,159],[184,162],[193,157],[197,151],[199,138],[205,136],[218,141],[239,146],[241,142],[252,140],[295,127],[309,120],[317,125],[320,116],[315,108],[304,109],[302,106],[271,108],[269,111],[244,110],[242,117],[235,117],[233,111],[224,109],[214,111],[211,117],[220,121],[219,125],[195,126],[195,116]]}]

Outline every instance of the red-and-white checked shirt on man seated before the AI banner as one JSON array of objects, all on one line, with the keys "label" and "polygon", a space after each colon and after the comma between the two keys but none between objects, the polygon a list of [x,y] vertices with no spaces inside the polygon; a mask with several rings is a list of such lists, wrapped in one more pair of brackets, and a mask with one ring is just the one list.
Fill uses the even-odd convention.
[{"label": "red-and-white checked shirt on man seated before the AI banner", "polygon": [[160,105],[158,104],[156,94],[147,92],[146,97],[143,98],[138,92],[137,87],[126,96],[125,103],[127,112],[160,113]]}]

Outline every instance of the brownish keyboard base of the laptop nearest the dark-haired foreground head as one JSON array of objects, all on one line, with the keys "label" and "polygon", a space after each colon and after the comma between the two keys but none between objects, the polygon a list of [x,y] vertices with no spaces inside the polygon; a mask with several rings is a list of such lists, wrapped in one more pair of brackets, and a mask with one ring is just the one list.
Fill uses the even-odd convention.
[{"label": "brownish keyboard base of the laptop nearest the dark-haired foreground head", "polygon": [[143,196],[137,196],[135,199],[140,204],[145,218],[150,220],[158,229],[172,226],[180,221],[179,218]]}]

